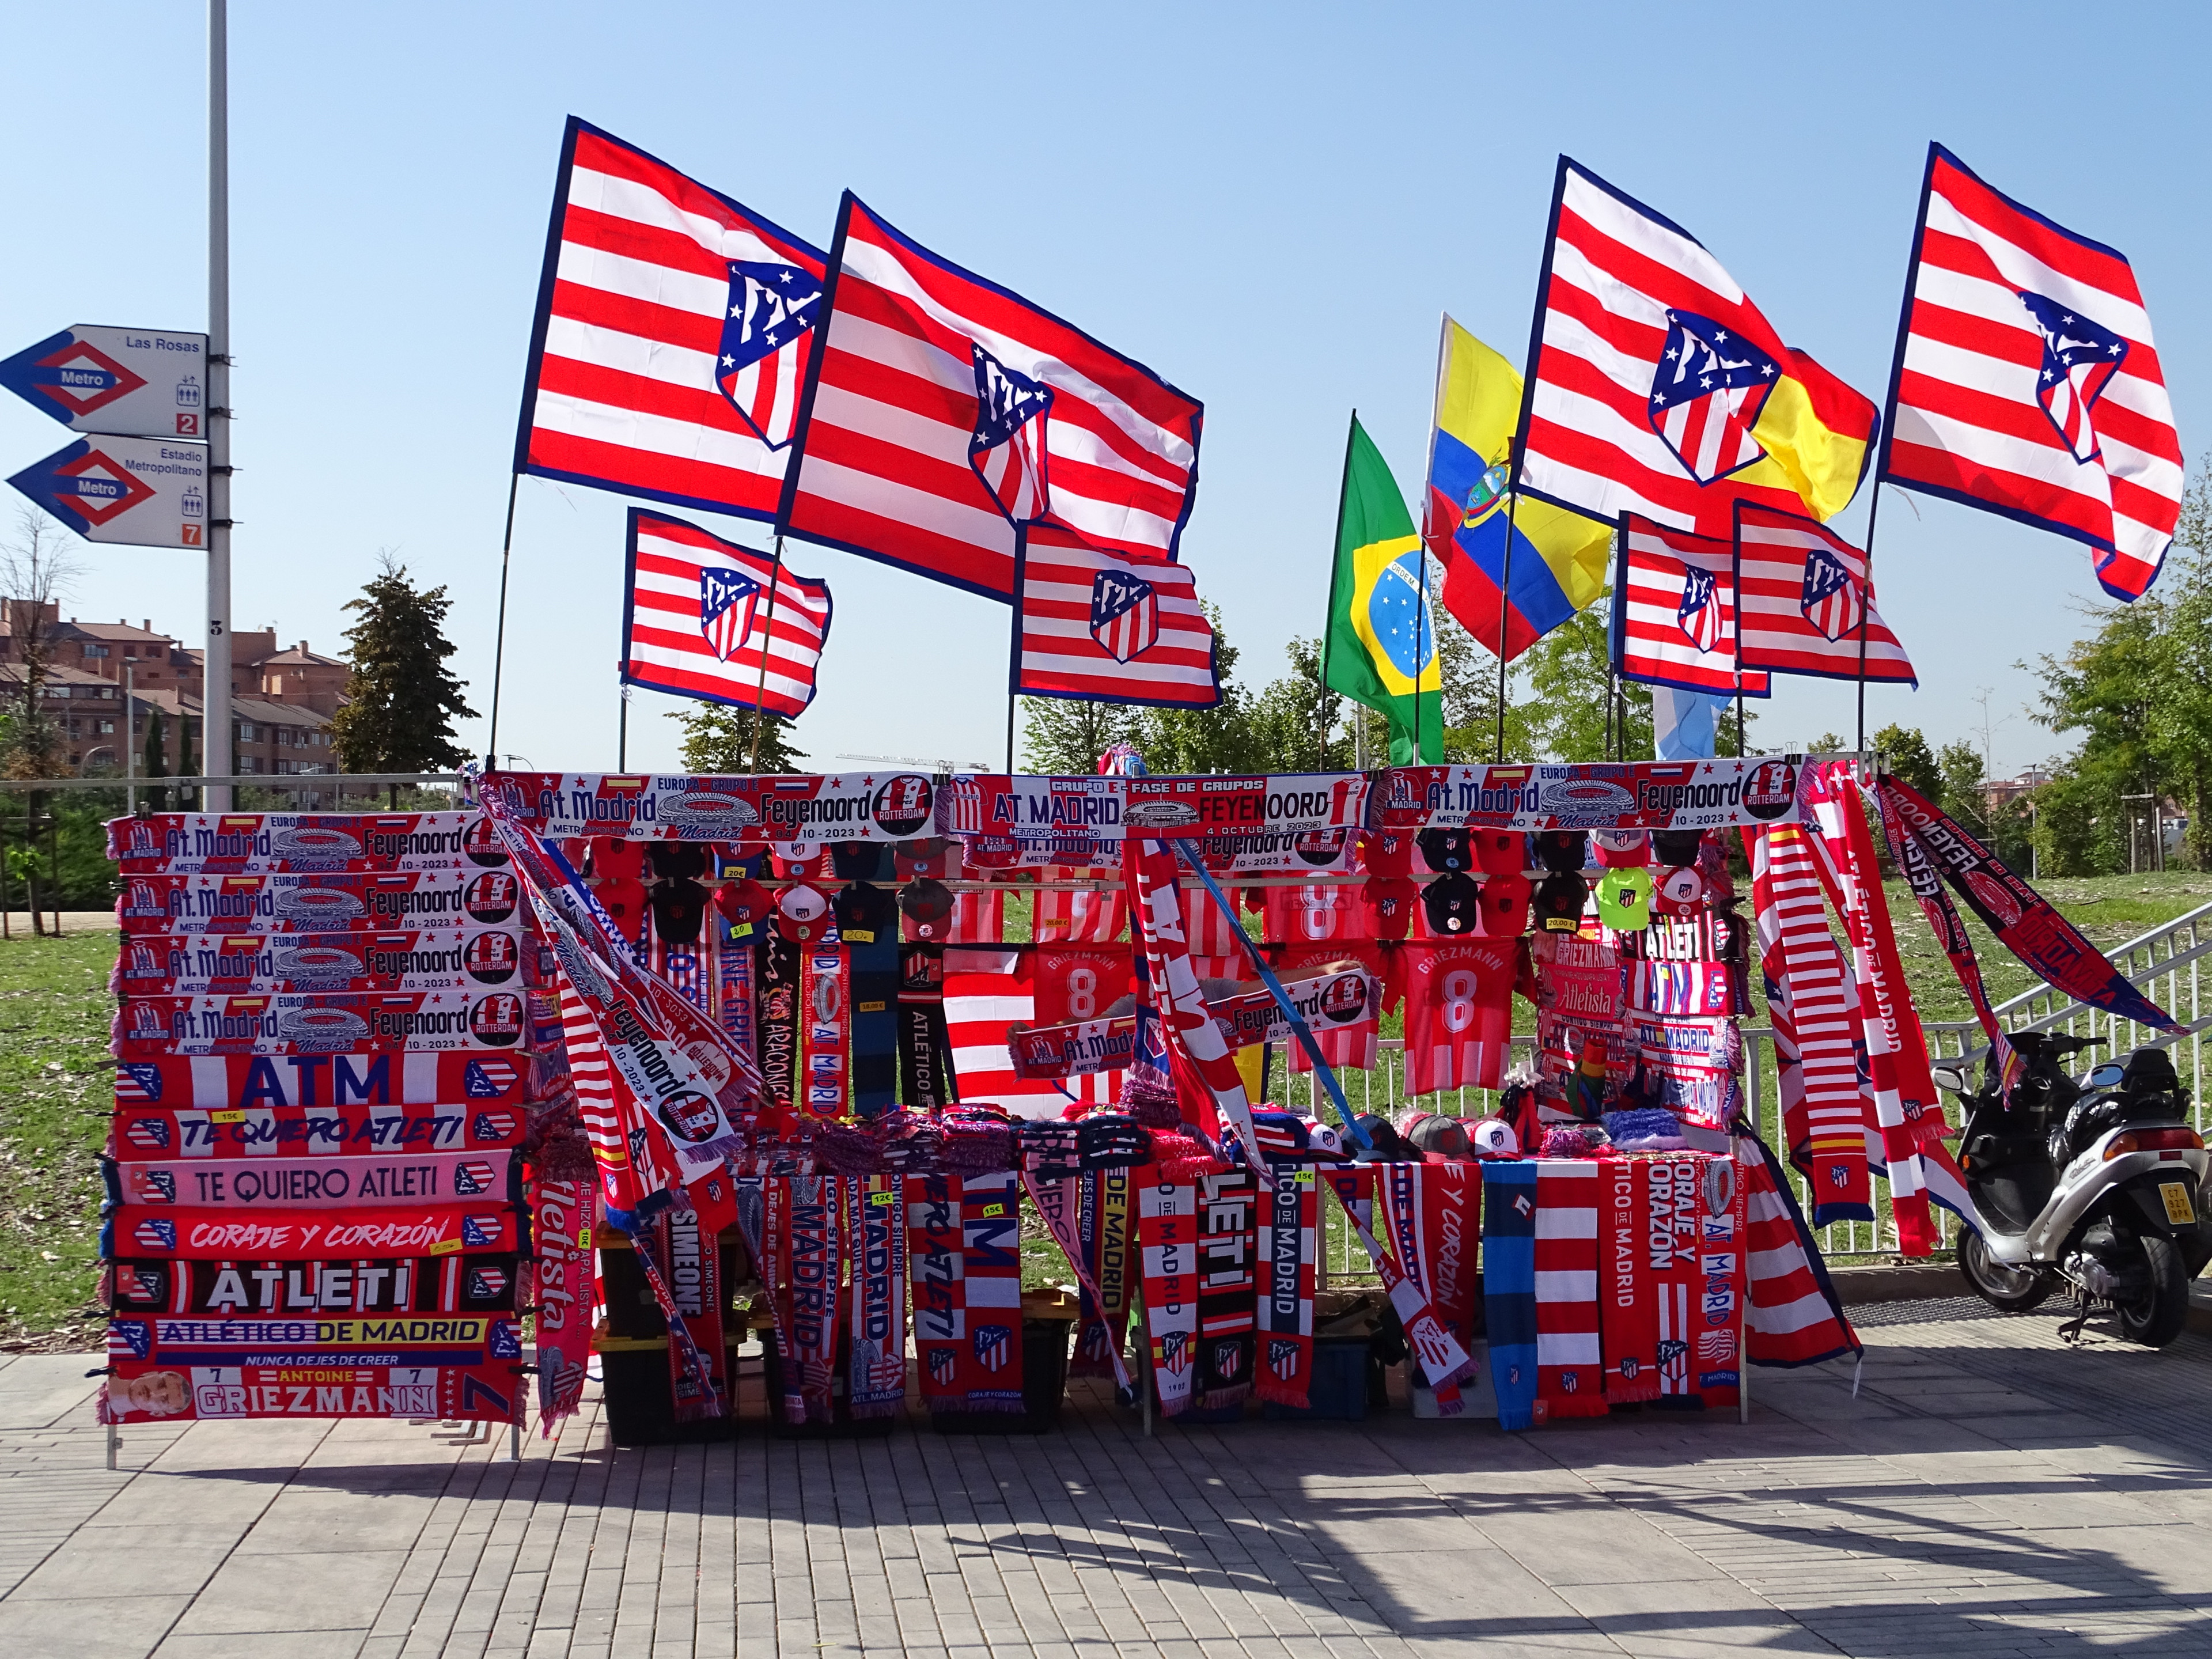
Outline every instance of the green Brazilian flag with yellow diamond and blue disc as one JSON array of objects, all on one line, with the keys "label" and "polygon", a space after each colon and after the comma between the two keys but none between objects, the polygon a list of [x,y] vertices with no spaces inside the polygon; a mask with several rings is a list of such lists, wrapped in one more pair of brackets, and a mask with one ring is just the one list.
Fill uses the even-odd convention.
[{"label": "green Brazilian flag with yellow diamond and blue disc", "polygon": [[1398,480],[1352,416],[1321,684],[1389,721],[1391,765],[1444,759],[1444,677],[1427,564]]}]

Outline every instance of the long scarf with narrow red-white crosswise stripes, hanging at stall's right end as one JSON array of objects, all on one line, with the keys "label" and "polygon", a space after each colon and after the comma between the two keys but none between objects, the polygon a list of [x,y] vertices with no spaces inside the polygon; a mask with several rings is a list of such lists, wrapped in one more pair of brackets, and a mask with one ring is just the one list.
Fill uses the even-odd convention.
[{"label": "long scarf with narrow red-white crosswise stripes, hanging at stall's right end", "polygon": [[1827,907],[1805,830],[1743,832],[1752,856],[1752,902],[1761,969],[1790,993],[1790,1026],[1805,1099],[1814,1223],[1871,1221],[1867,1106],[1858,1088],[1858,1004],[1845,993],[1845,962],[1827,931]]}]

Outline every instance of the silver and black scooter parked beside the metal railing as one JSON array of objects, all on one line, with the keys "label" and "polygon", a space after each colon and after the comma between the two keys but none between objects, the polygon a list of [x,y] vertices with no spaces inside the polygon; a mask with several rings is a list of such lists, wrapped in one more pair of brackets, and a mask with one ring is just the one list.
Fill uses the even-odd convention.
[{"label": "silver and black scooter parked beside the metal railing", "polygon": [[1931,1068],[1966,1108],[1958,1161],[1984,1221],[1960,1234],[1960,1272],[2008,1314],[2073,1285],[2081,1318],[2070,1334],[2106,1305],[2128,1340],[2166,1347],[2188,1323],[2190,1279],[2212,1261],[2212,1157],[2188,1126],[2174,1062],[2137,1048],[2075,1084],[2059,1060],[2088,1037],[2022,1031],[2011,1042],[2024,1062],[2011,1104],[1993,1060],[1980,1091],[1960,1066]]}]

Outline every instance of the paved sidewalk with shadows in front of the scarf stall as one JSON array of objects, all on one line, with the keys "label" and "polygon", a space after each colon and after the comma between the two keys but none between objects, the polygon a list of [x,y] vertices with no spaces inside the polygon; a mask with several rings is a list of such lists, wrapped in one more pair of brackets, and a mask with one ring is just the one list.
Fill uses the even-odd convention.
[{"label": "paved sidewalk with shadows in front of the scarf stall", "polygon": [[[131,1429],[0,1360],[0,1655],[2212,1655],[2212,1340],[1858,1310],[1750,1427],[1135,1425],[615,1453]],[[1088,1387],[1088,1385],[1084,1385]]]}]

